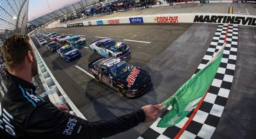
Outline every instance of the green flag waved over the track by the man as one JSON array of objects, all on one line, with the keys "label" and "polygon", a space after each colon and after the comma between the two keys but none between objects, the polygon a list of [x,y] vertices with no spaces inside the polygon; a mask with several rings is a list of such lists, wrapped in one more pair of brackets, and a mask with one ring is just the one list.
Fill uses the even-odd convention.
[{"label": "green flag waved over the track by the man", "polygon": [[202,70],[194,74],[175,94],[162,103],[163,108],[172,105],[172,109],[159,121],[157,127],[168,128],[174,126],[195,108],[214,79],[220,66],[225,45],[226,43]]}]

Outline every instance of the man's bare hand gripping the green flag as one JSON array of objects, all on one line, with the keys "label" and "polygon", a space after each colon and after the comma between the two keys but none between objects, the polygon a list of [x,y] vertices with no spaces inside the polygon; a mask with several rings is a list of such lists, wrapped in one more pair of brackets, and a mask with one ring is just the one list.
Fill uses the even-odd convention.
[{"label": "man's bare hand gripping the green flag", "polygon": [[156,119],[156,115],[159,113],[159,108],[161,107],[162,107],[162,104],[143,106],[141,109],[145,112],[144,122],[150,122]]}]

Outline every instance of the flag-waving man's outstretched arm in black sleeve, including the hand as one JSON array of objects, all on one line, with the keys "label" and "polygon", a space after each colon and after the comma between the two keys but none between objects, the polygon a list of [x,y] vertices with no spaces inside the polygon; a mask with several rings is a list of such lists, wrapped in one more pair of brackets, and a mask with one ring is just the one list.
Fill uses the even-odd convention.
[{"label": "flag-waving man's outstretched arm in black sleeve, including the hand", "polygon": [[140,110],[113,119],[90,122],[67,112],[61,112],[52,103],[42,103],[27,117],[26,131],[31,137],[43,138],[105,138],[127,131],[141,122],[156,118],[161,105],[146,105]]}]

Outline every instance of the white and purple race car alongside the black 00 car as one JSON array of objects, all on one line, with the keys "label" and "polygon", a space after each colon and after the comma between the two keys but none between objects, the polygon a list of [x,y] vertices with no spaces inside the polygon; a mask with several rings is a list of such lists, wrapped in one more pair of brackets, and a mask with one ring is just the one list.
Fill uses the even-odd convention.
[{"label": "white and purple race car alongside the black 00 car", "polygon": [[90,44],[90,48],[95,54],[105,57],[122,58],[131,52],[126,43],[117,43],[111,38],[96,40]]}]

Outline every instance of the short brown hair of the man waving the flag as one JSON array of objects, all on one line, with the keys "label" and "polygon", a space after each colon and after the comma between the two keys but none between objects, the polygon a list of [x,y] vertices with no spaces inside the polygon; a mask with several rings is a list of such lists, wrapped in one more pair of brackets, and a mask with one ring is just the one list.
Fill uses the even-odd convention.
[{"label": "short brown hair of the man waving the flag", "polygon": [[27,52],[32,52],[32,47],[29,43],[29,36],[22,34],[13,34],[5,40],[1,48],[7,67],[13,69],[20,67]]}]

